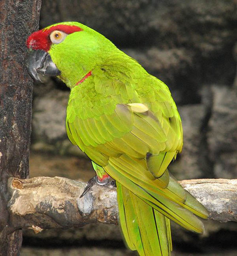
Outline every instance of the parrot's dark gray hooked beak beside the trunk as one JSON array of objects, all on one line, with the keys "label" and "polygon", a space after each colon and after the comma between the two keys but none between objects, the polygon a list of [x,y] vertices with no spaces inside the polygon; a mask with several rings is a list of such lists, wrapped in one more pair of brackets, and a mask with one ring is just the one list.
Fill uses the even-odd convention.
[{"label": "parrot's dark gray hooked beak beside the trunk", "polygon": [[26,67],[30,76],[38,82],[42,82],[39,74],[43,76],[61,75],[61,71],[53,63],[49,53],[43,50],[30,49],[26,56]]}]

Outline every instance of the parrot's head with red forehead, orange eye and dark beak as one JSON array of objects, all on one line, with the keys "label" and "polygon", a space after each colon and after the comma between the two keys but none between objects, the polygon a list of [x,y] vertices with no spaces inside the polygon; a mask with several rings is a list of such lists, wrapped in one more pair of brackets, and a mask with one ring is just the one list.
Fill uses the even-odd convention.
[{"label": "parrot's head with red forehead, orange eye and dark beak", "polygon": [[117,49],[102,34],[78,22],[63,22],[32,33],[26,66],[30,75],[58,76],[72,88]]}]

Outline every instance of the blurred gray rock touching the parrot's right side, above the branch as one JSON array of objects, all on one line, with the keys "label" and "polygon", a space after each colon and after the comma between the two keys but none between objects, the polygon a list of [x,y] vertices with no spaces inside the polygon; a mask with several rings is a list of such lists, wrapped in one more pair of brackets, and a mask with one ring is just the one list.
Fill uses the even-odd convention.
[{"label": "blurred gray rock touching the parrot's right side, above the branch", "polygon": [[205,175],[205,157],[203,156],[203,136],[201,128],[207,114],[202,104],[178,107],[182,119],[184,145],[177,160],[169,165],[169,170],[178,180],[207,178]]}]

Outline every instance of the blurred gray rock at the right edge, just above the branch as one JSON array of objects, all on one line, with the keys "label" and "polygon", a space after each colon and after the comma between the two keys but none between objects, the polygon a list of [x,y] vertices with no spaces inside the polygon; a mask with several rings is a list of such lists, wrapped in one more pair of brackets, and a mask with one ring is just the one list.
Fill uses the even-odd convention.
[{"label": "blurred gray rock at the right edge, just above the branch", "polygon": [[213,109],[207,142],[216,178],[237,175],[237,94],[233,88],[212,86]]}]

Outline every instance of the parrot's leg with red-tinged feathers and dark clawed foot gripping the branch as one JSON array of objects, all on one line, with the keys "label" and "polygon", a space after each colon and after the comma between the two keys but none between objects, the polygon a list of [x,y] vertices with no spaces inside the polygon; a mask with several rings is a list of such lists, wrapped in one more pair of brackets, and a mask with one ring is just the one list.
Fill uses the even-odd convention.
[{"label": "parrot's leg with red-tinged feathers and dark clawed foot gripping the branch", "polygon": [[94,186],[95,183],[105,187],[116,187],[116,183],[114,180],[111,180],[110,176],[103,170],[101,166],[98,166],[94,162],[92,162],[92,166],[96,172],[96,176],[92,177],[87,182],[87,186],[85,187],[83,193],[80,198],[83,197],[90,189]]}]

